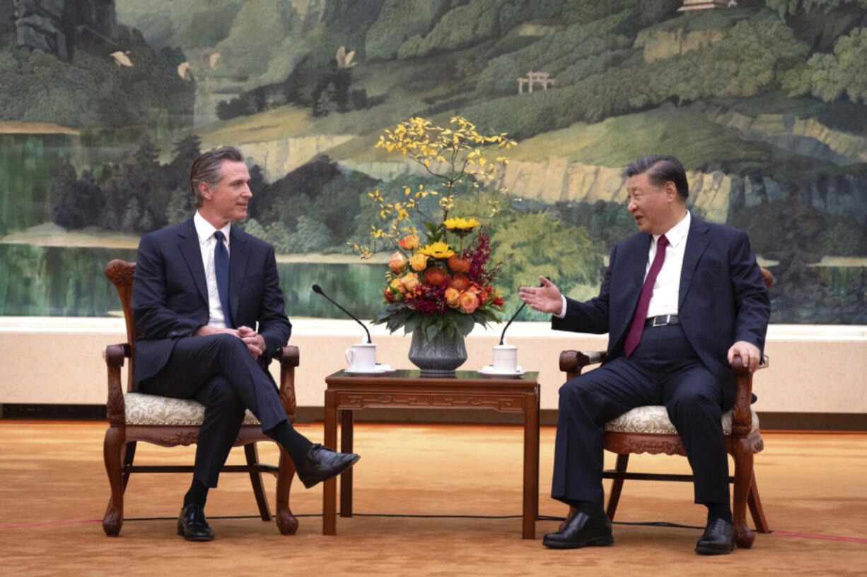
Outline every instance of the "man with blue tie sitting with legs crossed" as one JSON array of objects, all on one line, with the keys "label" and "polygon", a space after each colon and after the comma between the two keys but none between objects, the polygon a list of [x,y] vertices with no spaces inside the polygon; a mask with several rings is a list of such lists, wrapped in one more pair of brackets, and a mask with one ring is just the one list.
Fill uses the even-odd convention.
[{"label": "man with blue tie sitting with legs crossed", "polygon": [[205,405],[192,484],[178,519],[178,534],[188,541],[213,539],[205,499],[217,486],[245,409],[289,453],[305,487],[359,458],[298,433],[268,372],[291,325],[273,247],[231,226],[247,215],[249,182],[238,148],[202,154],[190,174],[195,215],[143,237],[135,267],[132,308],[140,336],[134,385]]}]

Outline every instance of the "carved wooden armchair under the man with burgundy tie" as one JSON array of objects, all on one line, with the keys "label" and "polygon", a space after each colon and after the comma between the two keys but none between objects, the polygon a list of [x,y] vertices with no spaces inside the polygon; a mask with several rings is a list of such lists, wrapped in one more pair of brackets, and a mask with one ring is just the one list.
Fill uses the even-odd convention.
[{"label": "carved wooden armchair under the man with burgundy tie", "polygon": [[[765,284],[770,288],[773,275],[767,269],[761,269]],[[583,367],[601,363],[605,353],[564,351],[560,353],[560,370],[572,379],[580,374]],[[768,366],[767,357],[762,359],[759,369]],[[746,507],[749,506],[753,522],[759,533],[770,533],[765,512],[759,500],[759,487],[753,471],[753,455],[764,449],[759,433],[759,418],[751,405],[753,397],[753,375],[735,360],[732,370],[737,377],[738,389],[735,394],[733,409],[722,416],[722,428],[726,436],[726,450],[734,459],[734,475],[728,477],[734,484],[732,496],[732,516],[735,531],[735,543],[741,548],[753,546],[755,535],[746,526]],[[620,417],[605,424],[604,447],[606,451],[616,453],[617,460],[614,470],[605,470],[603,478],[613,479],[611,494],[605,513],[614,520],[617,502],[623,489],[625,479],[652,481],[692,481],[692,475],[675,475],[667,473],[630,473],[626,466],[629,463],[629,453],[651,453],[686,456],[681,444],[681,438],[668,419],[664,406],[639,406],[624,413]],[[570,515],[574,514],[570,508]],[[561,528],[563,525],[561,525]]]}]

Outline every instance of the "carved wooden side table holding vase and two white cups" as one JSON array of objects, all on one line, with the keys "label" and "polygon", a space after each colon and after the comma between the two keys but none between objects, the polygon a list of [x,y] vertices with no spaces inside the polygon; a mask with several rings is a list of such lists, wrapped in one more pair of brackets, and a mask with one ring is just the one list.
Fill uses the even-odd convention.
[{"label": "carved wooden side table holding vase and two white cups", "polygon": [[[325,445],[335,448],[340,417],[340,451],[352,452],[353,411],[368,407],[397,409],[479,409],[524,413],[525,539],[536,538],[539,485],[538,373],[518,379],[485,378],[475,371],[454,377],[420,377],[419,371],[355,376],[343,371],[325,378]],[[352,470],[340,476],[340,515],[352,516]],[[323,535],[336,535],[336,479],[324,483]]]}]

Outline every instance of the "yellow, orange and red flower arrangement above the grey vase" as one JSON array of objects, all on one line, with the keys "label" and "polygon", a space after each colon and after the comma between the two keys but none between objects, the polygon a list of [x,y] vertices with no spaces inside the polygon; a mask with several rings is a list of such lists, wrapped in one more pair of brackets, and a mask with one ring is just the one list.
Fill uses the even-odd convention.
[{"label": "yellow, orange and red flower arrangement above the grey vase", "polygon": [[[369,193],[386,224],[372,225],[373,248],[357,244],[353,248],[362,258],[375,250],[396,249],[388,259],[382,290],[385,306],[375,319],[393,333],[403,327],[405,333],[420,329],[428,339],[438,334],[466,336],[475,323],[499,321],[497,313],[504,304],[494,288],[499,264],[490,263],[488,227],[477,220],[478,215],[450,217],[449,212],[461,195],[486,186],[508,163],[503,156],[488,159],[486,152],[517,143],[505,133],[479,134],[473,123],[460,116],[450,124],[456,126],[444,128],[412,118],[386,130],[375,145],[413,159],[446,189],[440,194],[424,185],[416,191],[407,186],[397,202],[383,197],[379,189]],[[426,212],[432,204],[425,201],[428,197],[437,198],[433,214]],[[496,202],[489,202],[487,210],[492,216]],[[424,228],[423,243],[414,217]]]}]

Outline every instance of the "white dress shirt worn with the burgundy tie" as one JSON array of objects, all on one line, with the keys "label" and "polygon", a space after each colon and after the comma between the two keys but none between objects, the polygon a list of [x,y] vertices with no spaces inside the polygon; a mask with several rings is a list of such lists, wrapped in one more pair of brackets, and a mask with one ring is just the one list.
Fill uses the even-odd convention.
[{"label": "white dress shirt worn with the burgundy tie", "polygon": [[[681,218],[681,222],[675,224],[665,233],[665,237],[668,238],[668,246],[665,248],[665,260],[662,261],[662,269],[659,270],[659,275],[656,276],[656,282],[653,285],[653,294],[650,295],[648,318],[661,314],[677,314],[677,302],[681,294],[683,254],[687,248],[687,236],[691,221],[692,217],[687,211],[687,216]],[[645,278],[648,276],[650,263],[653,263],[656,256],[656,243],[659,241],[659,237],[662,235],[654,235],[653,243],[650,243],[648,262],[644,267]],[[563,296],[563,307],[560,308],[560,314],[554,316],[558,319],[566,316],[565,296]]]}]

